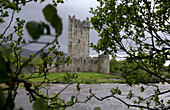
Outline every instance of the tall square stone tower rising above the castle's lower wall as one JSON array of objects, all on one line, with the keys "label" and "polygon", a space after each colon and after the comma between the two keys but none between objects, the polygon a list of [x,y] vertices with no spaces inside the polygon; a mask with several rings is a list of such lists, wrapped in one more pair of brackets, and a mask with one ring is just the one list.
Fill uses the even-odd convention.
[{"label": "tall square stone tower rising above the castle's lower wall", "polygon": [[68,55],[71,57],[89,57],[89,18],[80,21],[69,15]]}]

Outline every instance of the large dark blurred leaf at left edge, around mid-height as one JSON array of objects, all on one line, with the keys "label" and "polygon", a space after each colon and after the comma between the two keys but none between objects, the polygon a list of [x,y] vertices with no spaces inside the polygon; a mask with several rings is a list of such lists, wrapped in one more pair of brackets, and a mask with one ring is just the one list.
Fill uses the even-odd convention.
[{"label": "large dark blurred leaf at left edge, around mid-height", "polygon": [[0,82],[7,82],[10,79],[11,65],[9,51],[6,47],[0,47]]}]

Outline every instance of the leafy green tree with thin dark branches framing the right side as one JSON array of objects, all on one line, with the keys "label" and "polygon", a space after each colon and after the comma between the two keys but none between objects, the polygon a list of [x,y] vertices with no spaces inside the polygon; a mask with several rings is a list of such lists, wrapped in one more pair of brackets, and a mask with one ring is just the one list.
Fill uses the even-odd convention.
[{"label": "leafy green tree with thin dark branches framing the right side", "polygon": [[[161,83],[170,84],[170,72],[164,74],[164,64],[170,60],[170,2],[169,0],[98,0],[97,9],[91,9],[93,28],[99,33],[97,45],[91,47],[97,52],[103,51],[112,55],[119,52],[126,54],[126,60],[133,63],[132,68],[124,68],[123,74],[129,75],[130,85],[144,83],[134,77],[134,70],[140,69],[148,79],[156,78]],[[131,69],[131,73],[130,73]],[[129,80],[130,79],[130,80]],[[144,83],[144,84],[149,84]],[[156,84],[155,84],[156,85]],[[156,86],[157,87],[157,86]],[[115,90],[115,89],[114,89]],[[142,92],[145,88],[142,88]],[[138,103],[129,107],[145,109],[170,109],[170,100],[161,100],[167,91],[153,91],[155,95],[144,99],[139,97]],[[119,90],[116,89],[116,93]],[[120,92],[119,92],[120,93]],[[145,105],[140,105],[146,102]],[[154,104],[154,107],[151,106]]]}]

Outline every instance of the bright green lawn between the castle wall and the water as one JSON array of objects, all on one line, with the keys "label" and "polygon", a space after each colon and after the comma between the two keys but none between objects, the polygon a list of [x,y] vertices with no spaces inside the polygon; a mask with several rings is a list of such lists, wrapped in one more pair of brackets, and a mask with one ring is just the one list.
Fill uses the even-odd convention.
[{"label": "bright green lawn between the castle wall and the water", "polygon": [[[29,77],[31,74],[26,74],[25,77]],[[52,80],[52,82],[56,83],[69,83],[78,81],[80,83],[85,84],[95,84],[95,83],[124,83],[125,80],[120,76],[101,74],[101,73],[92,73],[92,72],[84,72],[84,73],[76,73],[78,75],[77,80],[70,79],[63,82],[64,76],[66,73],[50,73],[47,75],[47,78]],[[37,77],[38,74],[33,74],[33,77]],[[92,76],[92,78],[90,78]],[[44,77],[41,78],[31,78],[29,79],[32,82],[42,82]]]}]

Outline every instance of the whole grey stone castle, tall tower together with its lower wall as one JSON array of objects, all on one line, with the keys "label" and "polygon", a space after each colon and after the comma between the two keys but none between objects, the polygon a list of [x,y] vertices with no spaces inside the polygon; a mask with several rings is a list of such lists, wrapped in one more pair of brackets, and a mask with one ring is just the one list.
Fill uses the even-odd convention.
[{"label": "whole grey stone castle, tall tower together with its lower wall", "polygon": [[[99,72],[108,74],[110,72],[109,55],[89,57],[89,18],[80,21],[69,15],[68,26],[68,55],[71,63],[69,65],[60,63],[57,68],[50,72]],[[64,62],[67,57],[58,57]]]}]

